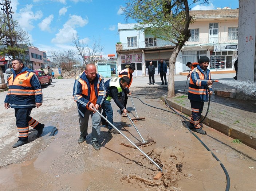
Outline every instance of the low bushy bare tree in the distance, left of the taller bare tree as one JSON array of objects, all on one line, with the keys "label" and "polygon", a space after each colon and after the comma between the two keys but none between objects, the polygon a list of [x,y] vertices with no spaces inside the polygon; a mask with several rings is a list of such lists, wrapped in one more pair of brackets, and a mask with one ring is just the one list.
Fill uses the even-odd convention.
[{"label": "low bushy bare tree in the distance, left of the taller bare tree", "polygon": [[63,70],[71,71],[73,65],[78,64],[79,61],[76,58],[76,52],[74,50],[51,50],[50,53],[56,58],[54,65],[59,65]]}]

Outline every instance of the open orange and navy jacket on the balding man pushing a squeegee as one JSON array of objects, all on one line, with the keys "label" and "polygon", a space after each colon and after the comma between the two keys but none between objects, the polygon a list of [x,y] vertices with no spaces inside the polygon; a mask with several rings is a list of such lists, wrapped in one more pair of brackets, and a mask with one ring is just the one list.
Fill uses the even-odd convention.
[{"label": "open orange and navy jacket on the balding man pushing a squeegee", "polygon": [[[93,96],[97,97],[96,104],[101,107],[106,96],[104,79],[101,75],[97,74],[92,83],[94,85],[95,92],[95,95]],[[89,108],[91,100],[93,99],[91,97],[91,84],[84,71],[75,79],[73,99],[77,103],[79,115],[84,118],[84,113]]]}]

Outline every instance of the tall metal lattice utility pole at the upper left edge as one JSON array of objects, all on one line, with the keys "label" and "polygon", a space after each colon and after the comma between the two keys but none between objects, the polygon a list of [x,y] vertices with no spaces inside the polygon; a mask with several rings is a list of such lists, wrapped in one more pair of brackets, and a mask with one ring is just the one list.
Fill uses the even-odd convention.
[{"label": "tall metal lattice utility pole at the upper left edge", "polygon": [[[1,8],[1,11],[3,11],[3,16],[4,16],[4,32],[5,34],[5,42],[6,42],[6,46],[10,46],[11,48],[17,46],[17,41],[16,41],[16,36],[13,35],[15,34],[15,29],[14,29],[14,25],[13,25],[13,20],[12,20],[12,7],[10,5],[11,1],[10,0],[3,0],[3,3],[1,3],[0,5],[3,6],[3,8]],[[12,58],[14,58],[15,55],[12,55]],[[10,65],[10,58],[9,58],[9,54],[8,54],[8,63]]]}]

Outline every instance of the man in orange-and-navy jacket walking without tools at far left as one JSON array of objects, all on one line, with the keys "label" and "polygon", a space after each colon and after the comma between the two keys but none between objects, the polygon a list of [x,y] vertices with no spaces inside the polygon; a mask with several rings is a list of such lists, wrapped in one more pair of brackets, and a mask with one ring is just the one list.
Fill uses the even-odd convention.
[{"label": "man in orange-and-navy jacket walking without tools at far left", "polygon": [[39,137],[43,133],[44,124],[30,117],[33,108],[42,105],[43,95],[39,79],[33,70],[24,66],[21,59],[13,59],[13,74],[9,77],[9,90],[4,100],[4,107],[14,108],[19,140],[13,148],[28,143],[28,130],[31,126],[36,129]]}]

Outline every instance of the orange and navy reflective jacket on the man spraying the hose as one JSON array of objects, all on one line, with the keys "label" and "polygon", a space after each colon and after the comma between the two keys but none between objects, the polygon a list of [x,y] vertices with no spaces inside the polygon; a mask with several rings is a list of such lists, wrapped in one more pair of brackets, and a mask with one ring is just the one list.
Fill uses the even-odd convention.
[{"label": "orange and navy reflective jacket on the man spraying the hose", "polygon": [[[197,65],[190,74],[190,82],[188,89],[188,99],[193,101],[208,101],[207,81],[211,80],[210,70],[203,71],[202,68]],[[212,86],[209,85],[210,91]]]}]

